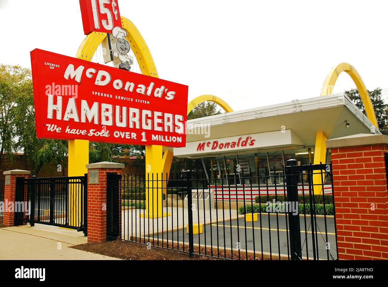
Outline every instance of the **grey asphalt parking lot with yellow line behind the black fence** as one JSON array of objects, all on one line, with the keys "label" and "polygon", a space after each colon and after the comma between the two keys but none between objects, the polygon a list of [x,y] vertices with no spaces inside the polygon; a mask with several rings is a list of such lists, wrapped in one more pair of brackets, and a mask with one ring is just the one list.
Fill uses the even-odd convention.
[{"label": "grey asphalt parking lot with yellow line behind the black fence", "polygon": [[[314,258],[315,249],[316,259],[337,259],[334,219],[328,217],[325,228],[324,218],[317,217],[316,226],[317,228],[315,224],[311,224],[310,217],[306,216],[305,228],[305,217],[300,215],[302,256]],[[189,241],[186,229],[164,233],[163,237],[165,239],[168,237],[169,240],[178,238],[181,242]],[[326,249],[326,242],[329,249]],[[261,257],[262,251],[288,255],[290,254],[288,222],[285,216],[269,215],[268,217],[267,214],[262,214],[261,223],[259,216],[258,221],[255,222],[246,222],[244,218],[240,218],[208,224],[203,226],[202,234],[194,235],[194,244],[206,245],[209,249],[218,246],[219,251],[239,247],[240,250],[255,251],[256,257]],[[213,252],[213,256],[218,255],[218,250]],[[236,256],[239,256],[238,252]]]}]

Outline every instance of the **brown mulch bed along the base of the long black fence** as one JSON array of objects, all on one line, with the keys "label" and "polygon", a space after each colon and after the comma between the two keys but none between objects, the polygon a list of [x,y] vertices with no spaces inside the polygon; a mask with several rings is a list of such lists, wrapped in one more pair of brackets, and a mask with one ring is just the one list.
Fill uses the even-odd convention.
[{"label": "brown mulch bed along the base of the long black fence", "polygon": [[[166,244],[164,247],[166,247]],[[170,250],[172,249],[172,245],[169,245],[170,249],[163,249],[155,246],[151,246],[151,249],[147,249],[147,245],[123,240],[108,241],[103,243],[86,243],[75,245],[71,248],[124,260],[221,260],[218,258],[199,255],[194,255],[193,258],[190,258],[187,253]],[[174,246],[174,249],[176,248],[177,246]],[[182,247],[179,248],[182,250]],[[186,247],[185,250],[187,250]],[[204,253],[204,251],[204,249],[201,249],[201,253]],[[194,247],[194,252],[199,253],[198,248]],[[206,254],[210,255],[211,250],[207,250]],[[213,251],[213,256],[217,256],[217,251]],[[225,256],[227,259],[232,258],[232,254],[229,252],[226,252],[225,254],[220,250],[219,257],[224,258]],[[233,253],[233,259],[238,259],[238,254]],[[245,255],[241,255],[241,259],[245,260]],[[253,256],[248,256],[248,260],[253,259]],[[256,257],[256,260],[257,259],[260,258]]]}]

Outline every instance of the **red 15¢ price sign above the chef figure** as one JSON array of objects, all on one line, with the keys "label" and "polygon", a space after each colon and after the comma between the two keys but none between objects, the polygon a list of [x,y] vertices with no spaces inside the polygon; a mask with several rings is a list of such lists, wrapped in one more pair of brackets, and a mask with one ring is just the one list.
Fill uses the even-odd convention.
[{"label": "red 15\u00a2 price sign above the chef figure", "polygon": [[80,0],[83,31],[111,33],[121,27],[118,0]]}]

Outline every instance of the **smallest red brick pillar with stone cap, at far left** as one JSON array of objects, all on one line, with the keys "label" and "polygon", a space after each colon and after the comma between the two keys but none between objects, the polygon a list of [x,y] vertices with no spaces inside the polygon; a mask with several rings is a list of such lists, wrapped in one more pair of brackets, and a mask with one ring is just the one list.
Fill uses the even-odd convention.
[{"label": "smallest red brick pillar with stone cap, at far left", "polygon": [[7,227],[14,226],[15,221],[16,178],[28,178],[30,173],[28,170],[3,172],[5,175],[3,224]]}]

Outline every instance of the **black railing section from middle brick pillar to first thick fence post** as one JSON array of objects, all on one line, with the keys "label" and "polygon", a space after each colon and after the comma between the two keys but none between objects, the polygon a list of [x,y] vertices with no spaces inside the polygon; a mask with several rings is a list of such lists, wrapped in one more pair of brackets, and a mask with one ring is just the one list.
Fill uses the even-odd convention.
[{"label": "black railing section from middle brick pillar to first thick fence post", "polygon": [[[123,207],[121,238],[189,252],[186,244],[188,236],[183,226],[187,223],[187,204],[182,200],[187,194],[187,184],[186,173],[171,174],[169,180],[167,174],[160,177],[123,174],[119,181]],[[180,242],[177,242],[178,236],[182,237]]]}]

